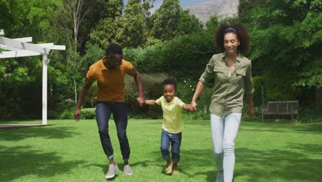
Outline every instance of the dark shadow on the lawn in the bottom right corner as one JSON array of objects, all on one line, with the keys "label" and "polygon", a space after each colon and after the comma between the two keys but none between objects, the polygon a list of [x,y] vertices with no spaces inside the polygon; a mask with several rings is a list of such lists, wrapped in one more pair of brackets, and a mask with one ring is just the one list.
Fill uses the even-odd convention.
[{"label": "dark shadow on the lawn in the bottom right corner", "polygon": [[[296,144],[292,144],[296,145]],[[291,145],[291,147],[292,147]],[[301,145],[301,144],[299,144]],[[305,145],[304,149],[321,150],[314,145]],[[237,148],[236,162],[241,168],[235,169],[237,174],[247,176],[248,181],[263,179],[277,181],[319,181],[322,178],[322,159],[310,159],[300,152],[286,150],[250,150]]]}]

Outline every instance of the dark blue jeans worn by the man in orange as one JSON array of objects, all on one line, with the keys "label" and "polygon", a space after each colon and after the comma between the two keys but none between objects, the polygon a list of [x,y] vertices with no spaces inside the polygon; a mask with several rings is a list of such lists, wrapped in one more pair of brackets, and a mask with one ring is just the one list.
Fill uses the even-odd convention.
[{"label": "dark blue jeans worn by the man in orange", "polygon": [[109,117],[113,113],[116,131],[118,132],[118,141],[123,160],[129,160],[130,148],[127,139],[127,104],[107,101],[98,101],[96,104],[96,122],[98,133],[100,134],[100,143],[108,159],[113,159],[114,153],[109,137]]}]

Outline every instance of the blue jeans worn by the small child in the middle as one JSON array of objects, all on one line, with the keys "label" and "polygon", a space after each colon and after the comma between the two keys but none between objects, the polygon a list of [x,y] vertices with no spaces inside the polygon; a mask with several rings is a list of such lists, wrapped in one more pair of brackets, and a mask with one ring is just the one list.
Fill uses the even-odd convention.
[{"label": "blue jeans worn by the small child in the middle", "polygon": [[170,159],[169,147],[171,143],[171,155],[173,163],[180,161],[180,145],[181,145],[182,133],[172,134],[162,130],[161,133],[161,154],[164,161]]}]

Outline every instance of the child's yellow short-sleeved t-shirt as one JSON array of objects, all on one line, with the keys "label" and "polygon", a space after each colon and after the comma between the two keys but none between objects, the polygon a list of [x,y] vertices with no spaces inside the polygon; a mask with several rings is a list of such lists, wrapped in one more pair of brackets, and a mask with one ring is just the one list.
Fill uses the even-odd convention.
[{"label": "child's yellow short-sleeved t-shirt", "polygon": [[169,133],[180,133],[183,130],[182,122],[182,102],[178,97],[172,99],[168,102],[164,96],[160,97],[155,101],[156,104],[161,105],[163,111],[163,130]]}]

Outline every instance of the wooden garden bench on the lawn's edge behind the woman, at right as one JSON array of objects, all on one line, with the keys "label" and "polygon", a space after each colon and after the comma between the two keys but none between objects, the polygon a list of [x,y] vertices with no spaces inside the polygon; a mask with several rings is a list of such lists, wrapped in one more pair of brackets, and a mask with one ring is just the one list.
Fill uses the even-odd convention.
[{"label": "wooden garden bench on the lawn's edge behind the woman, at right", "polygon": [[267,107],[261,108],[261,121],[264,121],[266,114],[291,114],[293,120],[294,114],[297,114],[297,118],[299,117],[298,108],[299,101],[268,101]]}]

